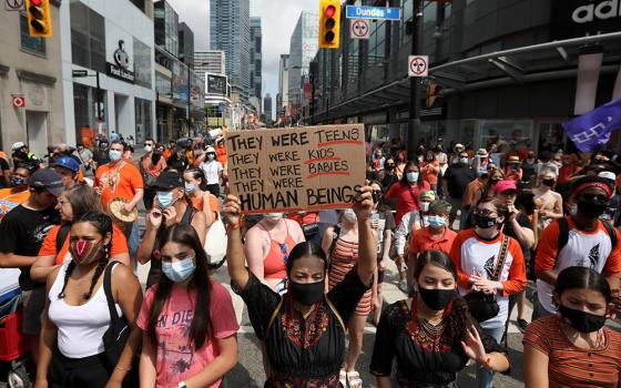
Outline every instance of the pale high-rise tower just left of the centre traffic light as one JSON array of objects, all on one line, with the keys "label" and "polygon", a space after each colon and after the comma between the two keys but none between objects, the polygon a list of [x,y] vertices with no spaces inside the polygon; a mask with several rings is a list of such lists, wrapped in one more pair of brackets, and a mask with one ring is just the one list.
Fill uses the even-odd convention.
[{"label": "pale high-rise tower just left of the centre traffic light", "polygon": [[303,78],[308,81],[308,67],[319,48],[319,13],[302,11],[293,31],[289,47],[288,104],[302,106]]}]

